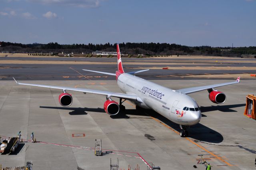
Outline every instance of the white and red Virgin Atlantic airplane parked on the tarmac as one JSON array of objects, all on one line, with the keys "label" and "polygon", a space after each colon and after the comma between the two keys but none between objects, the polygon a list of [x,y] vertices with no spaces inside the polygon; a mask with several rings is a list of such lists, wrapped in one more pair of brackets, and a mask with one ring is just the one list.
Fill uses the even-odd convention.
[{"label": "white and red Virgin Atlantic airplane parked on the tarmac", "polygon": [[[27,84],[17,82],[15,79],[14,80],[17,84],[20,85],[61,89],[62,93],[59,96],[59,102],[62,106],[70,106],[73,101],[71,94],[66,92],[67,90],[83,92],[84,94],[92,93],[104,95],[106,96],[106,101],[104,102],[104,110],[107,114],[112,116],[119,115],[121,114],[121,112],[125,111],[125,106],[123,106],[122,103],[125,100],[129,100],[136,104],[136,108],[140,107],[152,109],[167,118],[168,120],[179,124],[181,129],[181,137],[188,136],[187,127],[197,124],[198,122],[200,122],[200,119],[202,117],[198,104],[193,98],[191,98],[187,94],[199,92],[202,90],[208,90],[210,101],[216,104],[223,104],[226,101],[226,95],[223,92],[216,90],[215,88],[240,82],[240,77],[238,77],[236,81],[233,82],[172,90],[170,88],[160,86],[159,84],[144,80],[134,75],[136,73],[144,72],[147,70],[139,70],[125,73],[122,66],[118,44],[116,48],[118,64],[118,70],[116,71],[116,73],[99,72],[85,69],[83,70],[116,76],[117,85],[124,93],[91,90],[84,88],[49,86],[42,84]],[[119,104],[118,102],[112,100],[111,97],[119,98]]]}]

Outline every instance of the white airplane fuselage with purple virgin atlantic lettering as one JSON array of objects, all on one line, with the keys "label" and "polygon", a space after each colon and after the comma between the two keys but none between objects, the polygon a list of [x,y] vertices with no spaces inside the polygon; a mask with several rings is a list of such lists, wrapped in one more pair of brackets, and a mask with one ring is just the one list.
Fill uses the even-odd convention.
[{"label": "white airplane fuselage with purple virgin atlantic lettering", "polygon": [[172,122],[190,126],[201,119],[198,104],[186,94],[126,73],[118,76],[117,84],[124,93],[141,98],[143,103],[136,105],[150,108]]}]

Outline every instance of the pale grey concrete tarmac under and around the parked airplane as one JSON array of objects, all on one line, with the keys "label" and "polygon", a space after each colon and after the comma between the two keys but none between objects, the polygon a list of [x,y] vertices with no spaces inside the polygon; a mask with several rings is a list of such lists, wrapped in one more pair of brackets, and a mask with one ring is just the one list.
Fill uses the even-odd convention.
[{"label": "pale grey concrete tarmac under and around the parked airplane", "polygon": [[[108,71],[108,70],[105,70]],[[22,73],[20,73],[22,74]],[[172,89],[216,84],[229,80],[152,80]],[[21,81],[121,92],[115,80]],[[0,135],[13,137],[22,132],[23,143],[10,155],[0,155],[2,166],[24,166],[33,161],[36,170],[110,169],[110,158],[119,168],[148,162],[162,170],[198,170],[202,157],[212,170],[255,169],[256,124],[243,115],[246,95],[255,94],[255,80],[217,88],[227,100],[210,102],[206,90],[190,94],[200,106],[202,119],[181,138],[179,127],[151,110],[135,110],[126,101],[126,114],[109,116],[103,110],[105,96],[71,92],[73,104],[58,103],[61,90],[22,86],[0,81]],[[118,101],[118,99],[113,98]],[[36,143],[29,142],[34,132]],[[74,137],[73,137],[74,136]],[[94,140],[102,139],[104,156],[94,156]],[[28,140],[28,142],[25,142]]]}]

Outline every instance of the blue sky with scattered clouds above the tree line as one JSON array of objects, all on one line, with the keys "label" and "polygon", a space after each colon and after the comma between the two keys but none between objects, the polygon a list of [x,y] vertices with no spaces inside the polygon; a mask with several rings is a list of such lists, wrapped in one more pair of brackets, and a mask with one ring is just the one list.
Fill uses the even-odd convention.
[{"label": "blue sky with scattered clouds above the tree line", "polygon": [[0,0],[0,41],[256,46],[256,0]]}]

